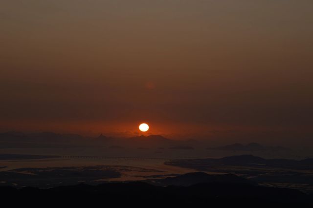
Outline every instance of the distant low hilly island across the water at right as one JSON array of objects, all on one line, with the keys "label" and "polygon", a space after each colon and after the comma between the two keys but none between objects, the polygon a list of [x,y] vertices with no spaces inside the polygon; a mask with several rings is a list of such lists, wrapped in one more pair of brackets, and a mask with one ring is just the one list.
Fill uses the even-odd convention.
[{"label": "distant low hilly island across the water at right", "polygon": [[249,143],[247,145],[242,145],[239,143],[235,143],[232,145],[219,146],[214,148],[208,148],[213,150],[228,150],[228,151],[289,151],[290,149],[282,147],[282,146],[262,146],[258,143]]}]

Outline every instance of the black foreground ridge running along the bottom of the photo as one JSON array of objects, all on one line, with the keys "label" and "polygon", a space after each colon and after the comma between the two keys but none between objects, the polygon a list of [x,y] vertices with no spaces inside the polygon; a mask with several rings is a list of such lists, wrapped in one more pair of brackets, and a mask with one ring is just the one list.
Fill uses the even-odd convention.
[{"label": "black foreground ridge running along the bottom of the photo", "polygon": [[312,196],[293,189],[245,183],[201,183],[159,187],[142,182],[77,185],[39,189],[0,187],[2,203],[23,206],[312,206]]}]

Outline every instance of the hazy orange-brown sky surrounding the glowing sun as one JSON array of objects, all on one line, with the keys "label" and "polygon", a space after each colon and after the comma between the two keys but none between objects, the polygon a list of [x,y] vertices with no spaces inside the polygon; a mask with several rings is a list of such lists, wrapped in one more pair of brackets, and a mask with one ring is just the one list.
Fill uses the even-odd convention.
[{"label": "hazy orange-brown sky surrounding the glowing sun", "polygon": [[312,0],[1,0],[0,129],[130,135],[144,121],[173,138],[312,140],[312,11]]}]

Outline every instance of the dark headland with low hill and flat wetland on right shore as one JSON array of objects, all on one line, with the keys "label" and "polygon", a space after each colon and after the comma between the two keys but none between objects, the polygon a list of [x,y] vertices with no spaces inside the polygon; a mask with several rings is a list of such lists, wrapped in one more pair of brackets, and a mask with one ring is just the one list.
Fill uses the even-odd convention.
[{"label": "dark headland with low hill and flat wetland on right shore", "polygon": [[313,159],[310,158],[286,160],[239,155],[219,159],[173,160],[165,164],[211,173],[231,173],[264,186],[292,187],[313,193]]}]

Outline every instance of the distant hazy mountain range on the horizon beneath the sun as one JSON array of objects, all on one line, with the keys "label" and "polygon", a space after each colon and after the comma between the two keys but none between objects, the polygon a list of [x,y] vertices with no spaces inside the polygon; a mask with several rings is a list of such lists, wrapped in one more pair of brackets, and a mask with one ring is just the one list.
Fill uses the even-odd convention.
[{"label": "distant hazy mountain range on the horizon beneath the sun", "polygon": [[[186,141],[173,141],[161,135],[136,136],[131,138],[112,138],[100,134],[98,137],[84,137],[78,134],[57,134],[53,132],[22,133],[5,132],[0,133],[1,148],[23,148],[23,147],[71,147],[71,146],[107,146],[111,148],[169,148],[184,146]],[[192,148],[192,147],[191,147]]]}]

